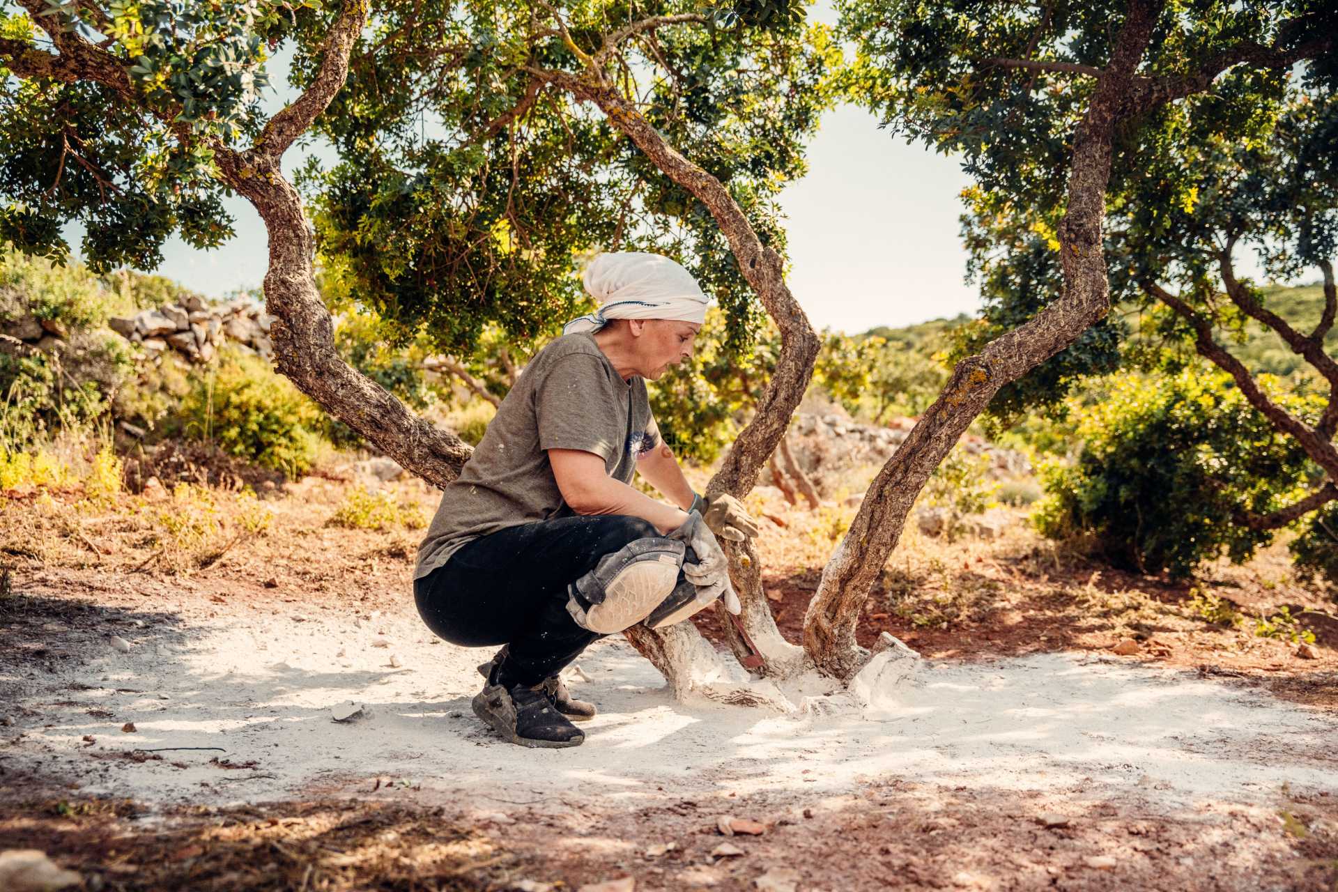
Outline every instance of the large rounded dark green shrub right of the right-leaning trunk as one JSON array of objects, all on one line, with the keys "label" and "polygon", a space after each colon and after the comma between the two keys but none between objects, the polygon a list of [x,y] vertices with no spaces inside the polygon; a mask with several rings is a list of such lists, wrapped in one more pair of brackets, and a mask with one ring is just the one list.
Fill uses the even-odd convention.
[{"label": "large rounded dark green shrub right of the right-leaning trunk", "polygon": [[[1314,400],[1259,381],[1314,420]],[[1108,560],[1144,572],[1187,576],[1223,551],[1248,559],[1272,534],[1238,523],[1235,511],[1283,507],[1313,471],[1228,376],[1202,368],[1115,378],[1104,400],[1081,411],[1077,431],[1076,463],[1042,468],[1046,496],[1033,520],[1046,536],[1088,538]]]}]

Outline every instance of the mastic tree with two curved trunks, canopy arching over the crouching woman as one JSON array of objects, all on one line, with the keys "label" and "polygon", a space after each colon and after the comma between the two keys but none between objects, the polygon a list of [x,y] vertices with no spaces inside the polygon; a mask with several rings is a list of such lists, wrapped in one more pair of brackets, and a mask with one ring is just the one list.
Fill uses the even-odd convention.
[{"label": "mastic tree with two curved trunks, canopy arching over the crouching woman", "polygon": [[[0,36],[8,241],[60,255],[59,227],[78,218],[94,266],[153,266],[171,231],[199,246],[225,238],[218,197],[240,194],[269,235],[278,370],[444,485],[468,447],[336,349],[316,231],[281,167],[318,124],[341,152],[336,169],[304,177],[322,259],[405,334],[432,325],[442,346],[467,346],[486,324],[533,334],[575,302],[574,255],[595,247],[677,245],[740,332],[756,301],[783,350],[708,491],[752,487],[818,352],[768,222],[775,191],[801,171],[838,55],[797,3],[17,5]],[[284,41],[301,92],[266,116],[262,63]],[[755,552],[731,558],[744,623],[780,641]],[[693,634],[680,625],[636,641],[681,687]],[[737,634],[733,645],[745,653]]]}]

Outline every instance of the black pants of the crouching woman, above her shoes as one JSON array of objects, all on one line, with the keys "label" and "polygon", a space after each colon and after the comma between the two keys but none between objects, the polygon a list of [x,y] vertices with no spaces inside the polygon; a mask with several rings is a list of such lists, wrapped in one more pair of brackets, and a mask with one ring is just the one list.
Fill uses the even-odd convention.
[{"label": "black pants of the crouching woman, above her shoes", "polygon": [[598,633],[567,612],[567,583],[629,542],[660,536],[628,515],[558,518],[470,542],[413,582],[419,615],[452,645],[507,645],[499,679],[538,685],[575,659]]}]

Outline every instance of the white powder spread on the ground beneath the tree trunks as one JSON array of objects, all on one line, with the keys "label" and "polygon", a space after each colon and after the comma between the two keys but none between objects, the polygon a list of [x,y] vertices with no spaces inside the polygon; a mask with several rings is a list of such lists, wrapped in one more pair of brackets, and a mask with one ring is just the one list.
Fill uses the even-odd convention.
[{"label": "white powder spread on the ground beneath the tree trunks", "polygon": [[[7,736],[24,732],[8,748],[8,770],[37,769],[78,780],[83,796],[150,804],[264,801],[341,784],[356,792],[373,776],[421,786],[424,798],[503,802],[495,808],[541,797],[638,805],[723,785],[740,796],[834,794],[894,777],[1131,793],[1167,808],[1262,802],[1284,782],[1338,789],[1338,729],[1326,715],[1104,655],[925,662],[909,678],[875,671],[863,703],[824,697],[828,683],[807,678],[785,693],[811,699],[783,714],[676,702],[645,659],[606,639],[579,661],[590,681],[573,683],[599,707],[583,725],[585,745],[546,750],[503,744],[482,726],[470,698],[491,649],[434,643],[412,608],[356,626],[256,615],[189,635],[118,631],[130,653],[90,638],[78,671],[0,669],[19,691]],[[334,722],[332,707],[348,701],[364,714]],[[91,707],[112,718],[94,718]],[[124,722],[135,733],[123,733]],[[225,752],[92,757],[191,746]],[[213,757],[254,766],[225,770]]]}]

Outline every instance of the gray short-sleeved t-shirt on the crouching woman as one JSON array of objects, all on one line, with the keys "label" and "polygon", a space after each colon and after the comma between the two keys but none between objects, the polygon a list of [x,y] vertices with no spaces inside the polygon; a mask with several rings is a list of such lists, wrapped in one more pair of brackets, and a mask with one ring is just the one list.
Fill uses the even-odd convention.
[{"label": "gray short-sleeved t-shirt on the crouching woman", "polygon": [[590,334],[563,334],[524,368],[460,476],[442,492],[413,578],[479,536],[575,514],[562,500],[546,449],[593,452],[610,477],[632,483],[637,457],[656,445],[646,382],[624,381]]}]

